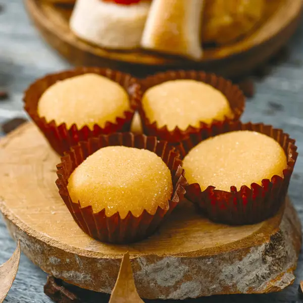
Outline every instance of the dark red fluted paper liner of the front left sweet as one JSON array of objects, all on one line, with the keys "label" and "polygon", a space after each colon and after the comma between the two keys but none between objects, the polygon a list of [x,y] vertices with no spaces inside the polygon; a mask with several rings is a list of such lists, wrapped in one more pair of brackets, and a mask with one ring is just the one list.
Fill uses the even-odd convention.
[{"label": "dark red fluted paper liner of the front left sweet", "polygon": [[[121,219],[119,213],[107,217],[105,210],[94,214],[91,206],[82,208],[80,202],[74,203],[71,200],[67,185],[74,169],[96,150],[116,145],[148,149],[162,158],[171,171],[173,181],[173,193],[171,200],[168,201],[168,210],[158,207],[154,215],[144,210],[139,217],[135,217],[129,212],[125,219]],[[56,184],[64,203],[84,232],[103,242],[131,243],[151,235],[184,197],[184,188],[187,183],[179,156],[174,147],[170,147],[165,141],[158,141],[156,137],[133,135],[132,133],[100,135],[80,142],[66,153],[61,159],[62,162],[57,166]]]}]

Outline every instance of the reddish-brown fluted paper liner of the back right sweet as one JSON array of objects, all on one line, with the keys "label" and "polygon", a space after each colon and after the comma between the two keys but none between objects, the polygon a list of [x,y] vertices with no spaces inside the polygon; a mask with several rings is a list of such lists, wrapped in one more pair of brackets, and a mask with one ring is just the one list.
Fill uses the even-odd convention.
[{"label": "reddish-brown fluted paper liner of the back right sweet", "polygon": [[[208,74],[201,71],[167,71],[164,73],[158,73],[153,76],[149,76],[141,81],[142,91],[145,92],[148,88],[155,85],[161,84],[170,80],[179,79],[191,79],[196,81],[201,81],[212,85],[219,91],[221,91],[227,98],[230,108],[233,112],[234,117],[225,117],[223,121],[214,120],[211,125],[204,122],[200,122],[199,127],[188,126],[187,129],[181,130],[178,126],[170,131],[167,126],[161,128],[158,127],[157,122],[150,122],[147,119],[142,104],[139,106],[139,114],[142,120],[143,131],[146,135],[157,136],[162,140],[167,140],[171,143],[177,143],[188,137],[191,133],[196,133],[198,131],[205,131],[211,127],[221,128],[221,125],[225,122],[236,121],[240,118],[245,107],[245,97],[243,92],[239,89],[237,85],[232,84],[231,81],[226,80],[222,77],[218,77],[215,74]],[[184,91],[184,93],[186,93]],[[210,100],[211,102],[211,100]],[[194,111],[194,109],[192,109]]]}]

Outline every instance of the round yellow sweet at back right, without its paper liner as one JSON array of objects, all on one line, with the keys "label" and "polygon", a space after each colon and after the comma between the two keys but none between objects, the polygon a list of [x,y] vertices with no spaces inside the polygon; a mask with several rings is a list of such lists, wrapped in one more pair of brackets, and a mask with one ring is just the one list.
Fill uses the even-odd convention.
[{"label": "round yellow sweet at back right, without its paper liner", "polygon": [[142,107],[149,122],[168,130],[198,127],[214,119],[233,117],[227,98],[213,86],[195,80],[172,80],[146,90]]}]

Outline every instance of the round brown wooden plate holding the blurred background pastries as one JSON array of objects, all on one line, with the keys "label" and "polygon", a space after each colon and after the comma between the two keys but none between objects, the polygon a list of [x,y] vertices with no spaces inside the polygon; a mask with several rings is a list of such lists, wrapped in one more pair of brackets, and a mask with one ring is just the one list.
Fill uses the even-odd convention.
[{"label": "round brown wooden plate holding the blurred background pastries", "polygon": [[203,69],[234,77],[264,63],[285,44],[298,25],[301,0],[267,1],[263,22],[242,40],[205,49],[200,62],[163,56],[143,50],[113,51],[78,39],[69,29],[72,7],[49,1],[25,0],[29,16],[44,39],[75,65],[118,68],[137,75],[167,69]]}]

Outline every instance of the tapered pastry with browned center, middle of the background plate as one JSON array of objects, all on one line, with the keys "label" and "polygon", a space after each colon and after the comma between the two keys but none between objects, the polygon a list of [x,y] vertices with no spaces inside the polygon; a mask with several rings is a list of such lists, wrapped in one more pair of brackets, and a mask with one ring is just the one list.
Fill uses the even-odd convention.
[{"label": "tapered pastry with browned center, middle of the background plate", "polygon": [[204,0],[153,0],[141,46],[198,60]]}]

